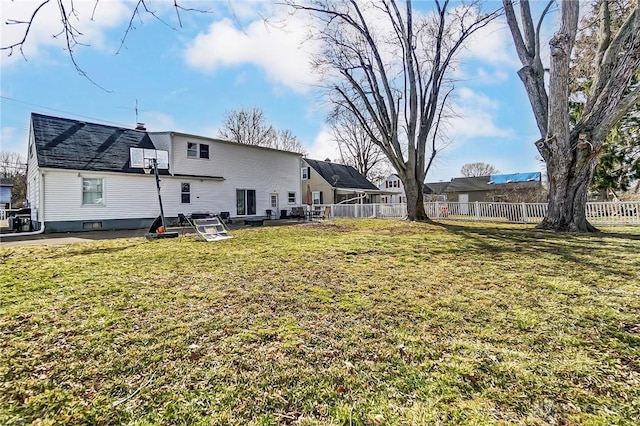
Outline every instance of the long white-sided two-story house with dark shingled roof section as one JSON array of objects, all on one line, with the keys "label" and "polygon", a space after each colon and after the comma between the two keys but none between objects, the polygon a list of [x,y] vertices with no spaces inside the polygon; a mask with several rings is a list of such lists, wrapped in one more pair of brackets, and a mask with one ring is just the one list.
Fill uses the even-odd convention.
[{"label": "long white-sided two-story house with dark shingled roof section", "polygon": [[129,149],[168,151],[164,213],[265,216],[301,204],[300,154],[177,132],[146,132],[31,115],[27,198],[47,232],[135,229],[159,214],[153,174]]}]

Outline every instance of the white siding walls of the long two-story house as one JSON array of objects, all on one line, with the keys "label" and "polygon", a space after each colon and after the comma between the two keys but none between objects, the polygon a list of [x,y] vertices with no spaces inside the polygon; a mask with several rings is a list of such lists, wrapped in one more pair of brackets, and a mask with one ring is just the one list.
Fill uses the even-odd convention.
[{"label": "white siding walls of the long two-story house", "polygon": [[[172,139],[168,139],[171,136]],[[171,143],[168,143],[168,141]],[[187,158],[187,141],[209,144],[209,159]],[[164,213],[219,213],[236,216],[236,189],[256,191],[256,214],[264,216],[271,208],[270,196],[278,194],[279,209],[288,207],[287,195],[300,194],[300,156],[276,150],[232,144],[206,138],[154,134],[158,149],[169,151],[173,174],[219,176],[224,180],[198,177],[161,176]],[[46,222],[97,221],[106,219],[153,218],[159,214],[158,196],[153,174],[137,175],[115,172],[40,169],[29,167],[29,196],[40,206]],[[40,174],[42,178],[40,179]],[[82,205],[82,179],[103,179],[103,205]],[[35,179],[35,180],[33,180]],[[32,183],[35,186],[32,187]],[[181,183],[191,184],[191,202],[181,202]],[[44,184],[41,198],[38,187]],[[33,194],[33,195],[32,195]],[[44,200],[44,201],[42,201]],[[34,205],[35,206],[35,205]]]}]

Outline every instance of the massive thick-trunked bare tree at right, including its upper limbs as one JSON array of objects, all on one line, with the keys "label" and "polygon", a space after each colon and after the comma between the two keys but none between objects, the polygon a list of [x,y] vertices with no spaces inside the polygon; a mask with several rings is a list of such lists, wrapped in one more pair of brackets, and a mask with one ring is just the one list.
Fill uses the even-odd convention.
[{"label": "massive thick-trunked bare tree at right, including its upper limbs", "polygon": [[548,92],[541,61],[540,28],[549,1],[534,23],[528,0],[520,0],[520,19],[512,0],[503,0],[507,22],[522,69],[522,80],[541,138],[536,147],[549,177],[549,208],[542,229],[595,231],[586,219],[589,183],[603,143],[613,126],[640,99],[640,84],[633,77],[640,67],[640,12],[636,0],[617,31],[612,31],[609,2],[598,0],[597,49],[592,82],[584,109],[571,125],[569,68],[578,32],[580,2],[563,0],[557,32],[549,42]]}]

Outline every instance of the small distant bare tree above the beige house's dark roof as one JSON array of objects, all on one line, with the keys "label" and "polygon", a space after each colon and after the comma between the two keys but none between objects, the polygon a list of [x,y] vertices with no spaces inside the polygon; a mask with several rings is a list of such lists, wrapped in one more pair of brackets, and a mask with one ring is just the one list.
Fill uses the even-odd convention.
[{"label": "small distant bare tree above the beige house's dark roof", "polygon": [[348,110],[337,109],[330,120],[333,140],[340,161],[353,166],[370,181],[379,180],[380,171],[388,167],[380,147],[371,139],[358,119]]}]

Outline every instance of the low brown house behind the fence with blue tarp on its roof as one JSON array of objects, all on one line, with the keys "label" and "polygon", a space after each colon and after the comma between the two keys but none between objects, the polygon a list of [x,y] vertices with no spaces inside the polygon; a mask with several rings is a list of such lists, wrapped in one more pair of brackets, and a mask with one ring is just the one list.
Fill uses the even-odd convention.
[{"label": "low brown house behind the fence with blue tarp on its roof", "polygon": [[453,178],[425,183],[425,200],[469,203],[544,201],[540,172]]}]

